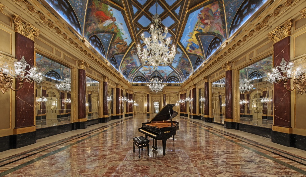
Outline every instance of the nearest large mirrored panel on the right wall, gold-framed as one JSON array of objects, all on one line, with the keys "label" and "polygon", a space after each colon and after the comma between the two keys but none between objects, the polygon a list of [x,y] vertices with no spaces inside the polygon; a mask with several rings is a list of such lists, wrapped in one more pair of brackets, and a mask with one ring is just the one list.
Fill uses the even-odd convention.
[{"label": "nearest large mirrored panel on the right wall, gold-framed", "polygon": [[267,81],[272,69],[269,56],[239,70],[240,123],[272,128],[273,84]]}]

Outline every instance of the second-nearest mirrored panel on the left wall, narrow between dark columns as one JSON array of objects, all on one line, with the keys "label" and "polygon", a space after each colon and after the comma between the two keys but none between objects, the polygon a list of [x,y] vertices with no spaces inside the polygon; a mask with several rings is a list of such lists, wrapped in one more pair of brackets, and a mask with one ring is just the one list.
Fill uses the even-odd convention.
[{"label": "second-nearest mirrored panel on the left wall, narrow between dark columns", "polygon": [[99,82],[86,76],[86,118],[99,118]]}]

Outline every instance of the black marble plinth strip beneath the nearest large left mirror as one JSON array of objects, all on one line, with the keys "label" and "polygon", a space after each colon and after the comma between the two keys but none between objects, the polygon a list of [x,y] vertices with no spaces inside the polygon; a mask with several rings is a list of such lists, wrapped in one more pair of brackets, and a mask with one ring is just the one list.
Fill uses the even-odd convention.
[{"label": "black marble plinth strip beneath the nearest large left mirror", "polygon": [[36,139],[46,138],[48,136],[57,135],[72,130],[72,124],[63,124],[46,128],[36,129]]}]

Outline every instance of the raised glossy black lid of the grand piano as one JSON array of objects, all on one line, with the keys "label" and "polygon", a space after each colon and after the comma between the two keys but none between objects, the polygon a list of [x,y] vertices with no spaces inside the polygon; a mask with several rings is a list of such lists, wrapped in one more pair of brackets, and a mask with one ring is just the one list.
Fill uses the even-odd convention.
[{"label": "raised glossy black lid of the grand piano", "polygon": [[177,116],[177,112],[173,110],[173,107],[175,106],[175,104],[166,104],[165,107],[162,108],[162,110],[159,111],[159,113],[157,113],[150,122],[152,121],[167,121],[169,119],[174,118],[175,116]]}]

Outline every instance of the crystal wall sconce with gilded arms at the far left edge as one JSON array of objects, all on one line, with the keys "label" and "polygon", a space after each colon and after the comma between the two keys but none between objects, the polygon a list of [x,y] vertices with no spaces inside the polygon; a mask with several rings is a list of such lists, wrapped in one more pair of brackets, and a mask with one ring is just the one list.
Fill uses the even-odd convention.
[{"label": "crystal wall sconce with gilded arms at the far left edge", "polygon": [[[26,70],[27,67],[29,70]],[[24,85],[24,81],[28,83],[36,82],[39,84],[43,79],[41,73],[36,73],[35,67],[30,68],[30,65],[24,60],[24,56],[22,56],[21,60],[14,62],[14,74],[12,74],[13,71],[8,68],[6,62],[4,62],[3,67],[0,68],[0,91],[2,93],[7,92],[8,88],[13,91],[20,90]],[[18,88],[13,88],[13,79],[15,78],[19,80]]]}]

